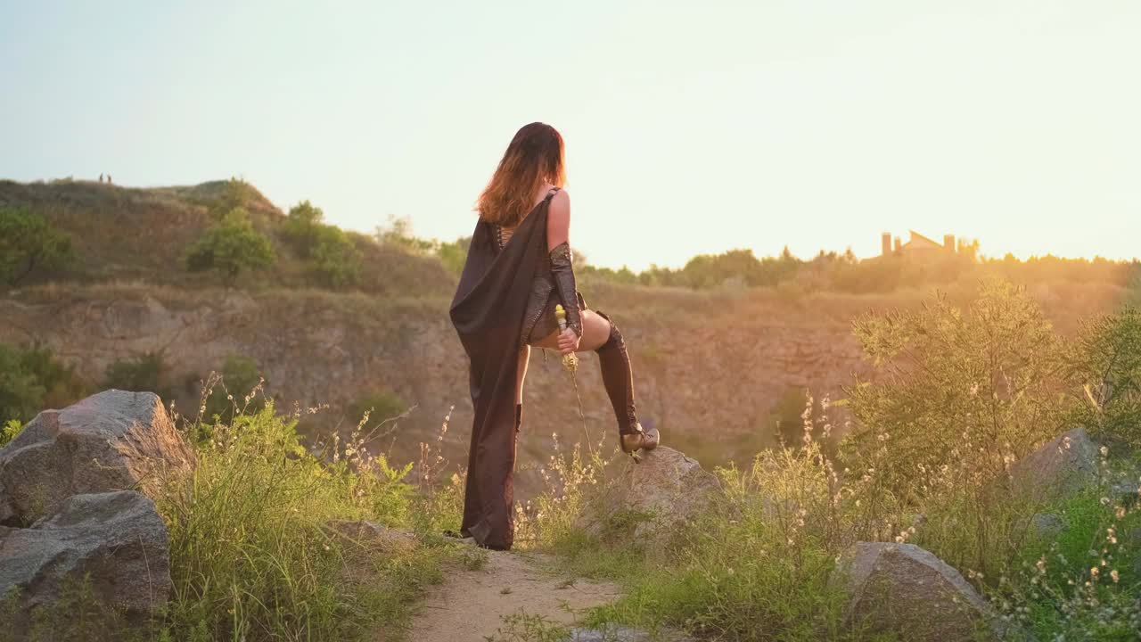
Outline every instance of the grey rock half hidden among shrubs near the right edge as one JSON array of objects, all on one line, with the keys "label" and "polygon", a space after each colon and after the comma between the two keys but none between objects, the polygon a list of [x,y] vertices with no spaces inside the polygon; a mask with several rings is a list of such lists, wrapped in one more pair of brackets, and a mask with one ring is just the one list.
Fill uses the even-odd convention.
[{"label": "grey rock half hidden among shrubs near the right edge", "polygon": [[1015,493],[1036,500],[1061,499],[1098,483],[1098,444],[1085,428],[1051,440],[1011,467]]}]

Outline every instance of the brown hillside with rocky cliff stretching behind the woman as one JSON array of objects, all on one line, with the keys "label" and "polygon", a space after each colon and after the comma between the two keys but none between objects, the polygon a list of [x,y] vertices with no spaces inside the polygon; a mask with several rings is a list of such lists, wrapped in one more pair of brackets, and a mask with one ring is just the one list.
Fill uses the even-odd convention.
[{"label": "brown hillside with rocky cliff stretching behind the woman", "polygon": [[[188,273],[187,244],[237,202],[278,248],[264,274],[221,288]],[[22,206],[68,232],[76,260],[0,298],[0,343],[40,342],[96,390],[116,362],[161,355],[177,406],[197,406],[197,387],[228,356],[246,358],[280,408],[329,404],[307,419],[315,434],[347,433],[350,408],[370,399],[410,412],[373,447],[415,460],[419,443],[443,434],[451,464],[466,460],[471,403],[467,360],[447,316],[455,275],[436,256],[349,233],[362,278],[333,291],[307,283],[283,240],[285,215],[252,186],[127,188],[98,183],[0,182],[0,207]],[[1063,332],[1114,308],[1127,283],[1089,279],[1027,281]],[[929,287],[849,294],[779,287],[695,290],[616,283],[584,270],[591,307],[613,313],[634,364],[640,417],[669,443],[709,464],[747,458],[776,441],[775,419],[798,425],[803,391],[842,394],[853,372],[868,375],[851,321],[871,310],[919,305]],[[972,296],[974,275],[940,284],[953,299]],[[556,355],[535,351],[527,375],[519,485],[537,488],[551,452],[583,433],[575,382]],[[614,443],[616,427],[593,355],[577,375],[586,430]]]}]

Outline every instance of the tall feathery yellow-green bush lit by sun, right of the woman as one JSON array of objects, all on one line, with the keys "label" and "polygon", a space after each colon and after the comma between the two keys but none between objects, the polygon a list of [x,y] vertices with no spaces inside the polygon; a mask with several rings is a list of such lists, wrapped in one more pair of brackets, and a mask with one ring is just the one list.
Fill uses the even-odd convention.
[{"label": "tall feathery yellow-green bush lit by sun, right of the woman", "polygon": [[915,311],[872,313],[855,334],[876,367],[848,388],[852,468],[922,496],[920,471],[945,465],[990,480],[1061,426],[1065,352],[1038,305],[985,281],[960,310],[937,296]]}]

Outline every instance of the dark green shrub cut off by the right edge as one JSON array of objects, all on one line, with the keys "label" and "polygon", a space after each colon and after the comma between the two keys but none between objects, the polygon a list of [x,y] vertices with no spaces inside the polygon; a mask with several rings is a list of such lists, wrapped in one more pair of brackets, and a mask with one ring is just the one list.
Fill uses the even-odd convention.
[{"label": "dark green shrub cut off by the right edge", "polygon": [[1141,311],[1128,306],[1087,323],[1071,368],[1081,400],[1075,420],[1141,448]]}]

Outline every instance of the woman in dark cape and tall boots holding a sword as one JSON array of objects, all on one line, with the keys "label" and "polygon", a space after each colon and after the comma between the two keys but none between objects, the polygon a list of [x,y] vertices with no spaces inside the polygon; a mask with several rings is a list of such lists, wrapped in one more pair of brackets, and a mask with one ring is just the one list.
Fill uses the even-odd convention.
[{"label": "woman in dark cape and tall boots holding a sword", "polygon": [[[515,446],[531,346],[598,353],[622,450],[658,442],[657,431],[642,430],[634,414],[622,334],[609,316],[588,310],[575,289],[565,180],[559,133],[542,122],[519,129],[479,196],[479,220],[452,299],[452,323],[471,360],[476,415],[459,536],[486,548],[508,549],[515,535]],[[556,305],[566,310],[566,330],[559,330]]]}]

